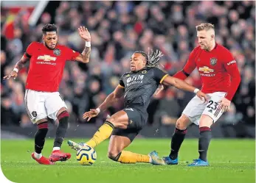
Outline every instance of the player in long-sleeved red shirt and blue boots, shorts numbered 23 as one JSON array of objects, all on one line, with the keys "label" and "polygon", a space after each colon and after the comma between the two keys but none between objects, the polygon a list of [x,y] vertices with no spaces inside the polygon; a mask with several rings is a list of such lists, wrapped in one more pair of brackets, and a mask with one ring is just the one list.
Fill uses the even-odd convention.
[{"label": "player in long-sleeved red shirt and blue boots, shorts numbered 23", "polygon": [[211,140],[212,123],[229,110],[230,101],[235,95],[241,76],[234,57],[224,46],[215,43],[215,30],[212,24],[196,26],[199,46],[190,53],[184,68],[174,77],[186,79],[197,68],[201,75],[202,89],[207,93],[208,102],[195,96],[187,104],[181,117],[176,122],[176,129],[171,141],[171,151],[164,157],[167,165],[178,164],[178,152],[187,132],[187,126],[195,123],[199,126],[199,158],[188,166],[208,166],[207,150]]}]

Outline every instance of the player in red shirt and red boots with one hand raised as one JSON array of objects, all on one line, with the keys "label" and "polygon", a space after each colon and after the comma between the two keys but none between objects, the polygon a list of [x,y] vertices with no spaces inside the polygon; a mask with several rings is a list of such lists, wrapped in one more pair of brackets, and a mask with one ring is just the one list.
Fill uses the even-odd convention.
[{"label": "player in red shirt and red boots with one hand raised", "polygon": [[[32,123],[36,123],[38,126],[38,131],[35,133],[35,152],[32,153],[32,158],[39,164],[52,165],[56,161],[66,161],[71,157],[71,154],[60,151],[69,121],[66,104],[58,93],[63,69],[68,60],[89,62],[91,35],[84,26],[78,28],[80,37],[86,40],[85,49],[80,54],[58,44],[57,26],[55,24],[46,24],[42,32],[44,43],[30,43],[21,60],[16,63],[13,71],[8,76],[4,76],[4,79],[10,79],[11,77],[15,79],[24,63],[30,60],[24,103]],[[41,154],[48,132],[47,118],[58,119],[59,121],[52,154],[49,159]]]}]

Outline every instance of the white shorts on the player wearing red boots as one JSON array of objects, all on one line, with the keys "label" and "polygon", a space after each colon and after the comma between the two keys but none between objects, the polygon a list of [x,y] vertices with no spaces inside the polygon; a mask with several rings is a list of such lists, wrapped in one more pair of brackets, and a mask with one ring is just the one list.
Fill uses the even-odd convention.
[{"label": "white shorts on the player wearing red boots", "polygon": [[47,117],[55,121],[58,110],[62,107],[67,109],[63,98],[58,92],[39,92],[27,89],[24,103],[32,123]]}]

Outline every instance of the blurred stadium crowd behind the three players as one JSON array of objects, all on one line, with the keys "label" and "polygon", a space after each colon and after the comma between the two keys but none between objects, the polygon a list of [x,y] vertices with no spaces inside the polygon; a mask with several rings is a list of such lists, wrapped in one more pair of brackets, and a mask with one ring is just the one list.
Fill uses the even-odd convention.
[{"label": "blurred stadium crowd behind the three players", "polygon": [[[215,25],[217,43],[232,52],[242,78],[231,110],[213,127],[213,136],[255,137],[255,1],[46,1],[43,5],[1,1],[1,137],[33,137],[36,130],[24,107],[27,68],[15,80],[2,78],[32,41],[41,41],[44,24],[56,24],[59,43],[76,51],[85,46],[77,27],[86,26],[91,32],[89,64],[66,62],[60,84],[71,114],[67,136],[89,137],[106,115],[122,109],[120,101],[90,123],[82,119],[83,112],[97,107],[129,71],[131,54],[148,47],[160,49],[165,54],[161,63],[173,75],[197,45],[195,26],[201,22]],[[186,81],[201,87],[197,71]],[[149,124],[141,135],[170,137],[192,97],[193,93],[170,87],[153,98]],[[57,124],[52,122],[49,137]],[[188,136],[197,135],[192,126]]]}]

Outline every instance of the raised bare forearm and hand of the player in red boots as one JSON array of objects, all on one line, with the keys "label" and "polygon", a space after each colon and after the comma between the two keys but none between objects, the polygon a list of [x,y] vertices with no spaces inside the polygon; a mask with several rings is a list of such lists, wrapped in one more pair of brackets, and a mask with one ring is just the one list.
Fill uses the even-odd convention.
[{"label": "raised bare forearm and hand of the player in red boots", "polygon": [[88,31],[88,29],[86,29],[86,27],[84,27],[84,26],[80,26],[78,28],[78,32],[79,32],[80,37],[83,40],[86,40],[86,47],[84,48],[82,54],[77,56],[75,58],[75,60],[77,60],[79,62],[83,62],[83,63],[88,63],[90,55],[91,55],[91,35],[90,35],[90,32]]}]

